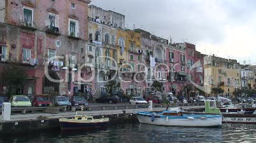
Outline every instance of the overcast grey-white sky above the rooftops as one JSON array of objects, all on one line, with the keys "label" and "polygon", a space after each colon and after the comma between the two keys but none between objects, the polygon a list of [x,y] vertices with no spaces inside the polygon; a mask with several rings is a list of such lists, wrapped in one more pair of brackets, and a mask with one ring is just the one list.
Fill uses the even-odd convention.
[{"label": "overcast grey-white sky above the rooftops", "polygon": [[[125,27],[142,28],[173,42],[191,42],[203,54],[256,65],[256,1],[92,0],[125,15]],[[250,61],[250,62],[249,62]]]}]

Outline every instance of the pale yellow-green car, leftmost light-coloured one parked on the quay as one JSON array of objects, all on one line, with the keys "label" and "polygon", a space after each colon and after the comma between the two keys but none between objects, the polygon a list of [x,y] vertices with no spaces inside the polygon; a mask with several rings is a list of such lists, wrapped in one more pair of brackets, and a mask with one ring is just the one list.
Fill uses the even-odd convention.
[{"label": "pale yellow-green car, leftmost light-coloured one parked on the quay", "polygon": [[27,96],[12,96],[10,99],[12,107],[31,107],[32,104]]}]

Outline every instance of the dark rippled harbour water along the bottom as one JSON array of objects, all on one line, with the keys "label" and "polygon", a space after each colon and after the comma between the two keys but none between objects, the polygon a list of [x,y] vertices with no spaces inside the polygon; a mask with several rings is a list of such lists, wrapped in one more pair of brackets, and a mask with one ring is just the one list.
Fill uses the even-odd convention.
[{"label": "dark rippled harbour water along the bottom", "polygon": [[38,132],[1,136],[0,142],[256,142],[256,125],[224,124],[222,128],[115,125],[83,132]]}]

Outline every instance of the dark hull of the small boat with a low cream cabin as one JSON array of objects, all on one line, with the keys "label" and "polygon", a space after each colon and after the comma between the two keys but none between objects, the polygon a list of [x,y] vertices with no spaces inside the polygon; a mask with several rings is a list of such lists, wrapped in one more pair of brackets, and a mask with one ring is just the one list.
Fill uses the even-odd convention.
[{"label": "dark hull of the small boat with a low cream cabin", "polygon": [[94,128],[106,128],[108,127],[108,121],[93,121],[93,122],[86,122],[86,121],[69,121],[67,119],[60,120],[60,129],[61,130],[90,130]]}]

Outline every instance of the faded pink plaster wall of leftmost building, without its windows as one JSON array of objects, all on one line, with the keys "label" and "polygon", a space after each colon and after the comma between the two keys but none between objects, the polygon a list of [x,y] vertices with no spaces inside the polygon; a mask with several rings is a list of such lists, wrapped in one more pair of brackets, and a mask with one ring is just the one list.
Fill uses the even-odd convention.
[{"label": "faded pink plaster wall of leftmost building, without its windows", "polygon": [[[76,8],[71,8],[71,2],[75,3]],[[22,63],[25,67],[28,77],[36,77],[34,80],[34,94],[42,94],[44,92],[43,84],[45,80],[44,65],[48,59],[48,50],[55,50],[56,56],[68,55],[68,58],[62,59],[65,63],[69,60],[70,53],[76,54],[76,64],[82,61],[82,54],[79,54],[80,49],[87,47],[88,40],[88,25],[87,25],[87,3],[88,1],[6,1],[6,26],[7,32],[4,35],[6,42],[3,40],[2,45],[7,47],[8,61]],[[32,9],[31,27],[24,28],[23,22],[23,8]],[[59,28],[59,34],[46,33],[46,26],[48,26],[48,14],[56,15],[55,27]],[[69,20],[73,18],[78,21],[76,32],[76,39],[71,39],[69,35]],[[23,26],[23,27],[22,27]],[[25,25],[26,26],[26,25]],[[1,30],[1,28],[0,28]],[[1,35],[0,35],[1,36]],[[57,45],[56,42],[60,42]],[[34,69],[27,68],[28,62],[22,60],[22,49],[31,49],[31,58],[38,59],[38,65]],[[65,62],[66,61],[66,62]],[[66,79],[65,71],[55,71],[57,77]],[[72,78],[71,95],[73,95],[73,87],[79,87],[75,84],[77,80],[77,73]],[[59,85],[60,94],[68,94],[67,82],[62,82]],[[27,91],[26,87],[24,91]],[[24,93],[26,94],[26,93]]]}]

